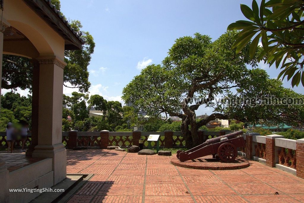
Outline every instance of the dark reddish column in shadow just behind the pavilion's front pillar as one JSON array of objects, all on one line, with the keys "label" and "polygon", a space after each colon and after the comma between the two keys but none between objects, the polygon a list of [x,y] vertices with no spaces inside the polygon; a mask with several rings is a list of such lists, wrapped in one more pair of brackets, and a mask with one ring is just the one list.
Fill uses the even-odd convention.
[{"label": "dark reddish column in shadow just behind the pavilion's front pillar", "polygon": [[35,146],[38,144],[38,112],[39,112],[39,62],[33,59],[33,78],[32,78],[32,136],[31,145],[26,150],[26,156],[32,156]]}]

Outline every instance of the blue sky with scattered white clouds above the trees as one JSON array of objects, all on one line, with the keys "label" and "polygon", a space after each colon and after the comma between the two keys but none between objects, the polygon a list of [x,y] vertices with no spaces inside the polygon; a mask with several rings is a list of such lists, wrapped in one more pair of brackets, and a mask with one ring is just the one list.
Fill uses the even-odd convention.
[{"label": "blue sky with scattered white clouds above the trees", "polygon": [[[94,37],[95,52],[88,67],[90,93],[121,101],[123,87],[141,68],[161,63],[176,38],[199,32],[215,40],[230,23],[245,19],[241,3],[250,5],[251,1],[61,0],[61,11],[68,19],[80,20],[83,30]],[[260,67],[270,77],[279,73],[275,67]],[[284,86],[291,88],[291,81],[284,81]],[[300,86],[294,90],[304,93]],[[64,88],[65,94],[72,91]],[[199,108],[197,115],[205,112],[211,113]]]}]

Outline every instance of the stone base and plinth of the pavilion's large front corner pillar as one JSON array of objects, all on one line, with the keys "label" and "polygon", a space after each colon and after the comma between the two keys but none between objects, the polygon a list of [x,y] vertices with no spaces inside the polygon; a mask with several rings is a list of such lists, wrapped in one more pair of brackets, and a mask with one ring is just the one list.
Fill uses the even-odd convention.
[{"label": "stone base and plinth of the pavilion's large front corner pillar", "polygon": [[53,158],[54,185],[67,177],[67,150],[62,143],[37,145],[32,157]]}]

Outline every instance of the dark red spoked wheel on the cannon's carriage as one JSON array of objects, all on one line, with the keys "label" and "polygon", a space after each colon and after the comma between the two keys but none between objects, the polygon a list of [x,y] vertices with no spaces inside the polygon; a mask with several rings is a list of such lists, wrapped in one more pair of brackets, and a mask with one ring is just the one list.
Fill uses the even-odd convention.
[{"label": "dark red spoked wheel on the cannon's carriage", "polygon": [[223,143],[219,146],[217,154],[223,162],[232,162],[237,157],[237,148],[232,143]]}]

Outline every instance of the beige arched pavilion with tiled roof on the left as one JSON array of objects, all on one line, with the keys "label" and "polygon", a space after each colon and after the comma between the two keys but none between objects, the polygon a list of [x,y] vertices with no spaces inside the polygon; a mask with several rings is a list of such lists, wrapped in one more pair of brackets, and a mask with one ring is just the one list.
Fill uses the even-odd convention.
[{"label": "beige arched pavilion with tiled roof on the left", "polygon": [[50,2],[0,0],[0,74],[2,54],[32,59],[32,145],[26,156],[41,159],[12,172],[0,160],[0,202],[28,202],[39,193],[9,189],[50,188],[66,178],[61,132],[64,51],[81,49],[84,40]]}]

